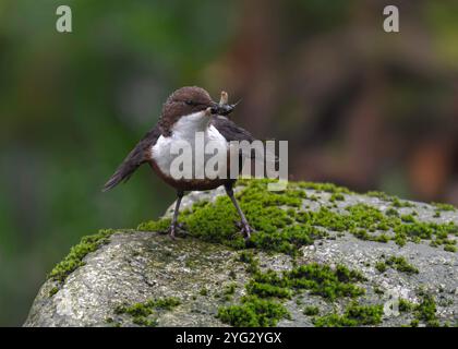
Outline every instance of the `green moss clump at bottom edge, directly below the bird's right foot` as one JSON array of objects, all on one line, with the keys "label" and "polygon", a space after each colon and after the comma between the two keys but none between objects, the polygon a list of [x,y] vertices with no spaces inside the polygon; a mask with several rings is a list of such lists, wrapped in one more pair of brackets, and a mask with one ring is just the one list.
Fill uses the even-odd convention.
[{"label": "green moss clump at bottom edge, directly below the bird's right foot", "polygon": [[244,297],[240,305],[219,308],[217,317],[237,327],[276,326],[278,321],[288,317],[287,309],[270,299]]}]

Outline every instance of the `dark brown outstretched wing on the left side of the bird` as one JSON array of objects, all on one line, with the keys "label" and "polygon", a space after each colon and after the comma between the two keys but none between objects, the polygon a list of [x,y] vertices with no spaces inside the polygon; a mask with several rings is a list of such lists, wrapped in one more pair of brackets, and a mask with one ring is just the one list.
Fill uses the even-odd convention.
[{"label": "dark brown outstretched wing on the left side of the bird", "polygon": [[113,189],[122,181],[128,181],[133,172],[142,165],[148,161],[150,147],[156,144],[157,139],[161,134],[160,128],[155,127],[135,145],[132,152],[125,157],[124,161],[118,167],[113,176],[104,185],[103,191],[106,192]]}]

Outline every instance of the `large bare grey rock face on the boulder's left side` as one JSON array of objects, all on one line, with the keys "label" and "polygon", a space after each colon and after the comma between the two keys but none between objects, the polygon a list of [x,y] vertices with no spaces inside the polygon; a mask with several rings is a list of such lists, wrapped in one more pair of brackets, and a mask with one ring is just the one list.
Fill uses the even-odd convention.
[{"label": "large bare grey rock face on the boulder's left side", "polygon": [[[86,256],[52,297],[52,281],[40,289],[25,326],[106,326],[123,303],[177,297],[182,305],[159,318],[160,326],[215,326],[218,300],[203,288],[220,289],[243,266],[233,265],[234,252],[198,240],[172,241],[156,232],[116,233],[110,243]],[[193,299],[193,296],[195,299]]]}]

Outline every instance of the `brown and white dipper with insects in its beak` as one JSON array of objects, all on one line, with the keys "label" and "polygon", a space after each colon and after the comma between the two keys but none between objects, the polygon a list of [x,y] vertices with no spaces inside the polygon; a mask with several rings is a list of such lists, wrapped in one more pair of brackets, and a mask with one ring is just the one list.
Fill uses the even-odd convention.
[{"label": "brown and white dipper with insects in its beak", "polygon": [[[229,176],[227,178],[203,176],[202,178],[176,179],[170,173],[170,165],[177,156],[171,154],[171,146],[180,141],[193,144],[196,132],[203,132],[204,142],[213,141],[228,149],[228,157],[231,141],[255,141],[249,131],[228,118],[237,104],[229,105],[227,99],[227,93],[222,92],[220,103],[216,103],[207,91],[197,86],[184,86],[174,91],[164,104],[157,124],[129,153],[105,183],[103,191],[109,191],[119,183],[126,182],[140,166],[148,164],[153,171],[177,192],[173,217],[168,229],[169,236],[174,239],[178,229],[182,228],[178,224],[178,216],[184,193],[206,191],[224,185],[240,216],[241,221],[238,222],[240,232],[245,240],[249,240],[254,229],[250,226],[234,196],[233,185],[237,179]],[[242,159],[239,158],[239,160]]]}]

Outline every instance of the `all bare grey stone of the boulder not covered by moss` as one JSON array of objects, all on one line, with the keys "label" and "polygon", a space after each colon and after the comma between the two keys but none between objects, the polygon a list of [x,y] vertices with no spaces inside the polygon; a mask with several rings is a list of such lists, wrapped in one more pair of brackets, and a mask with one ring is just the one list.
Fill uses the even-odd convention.
[{"label": "all bare grey stone of the boulder not covered by moss", "polygon": [[[329,194],[306,190],[318,201],[304,200],[308,209],[317,209],[328,202]],[[190,193],[183,198],[183,207],[191,207],[200,200],[214,200],[224,190],[206,193]],[[335,209],[346,205],[366,203],[381,210],[386,202],[376,197],[345,194]],[[457,212],[444,212],[434,218],[434,207],[412,203],[412,207],[399,208],[402,214],[413,209],[419,220],[455,221]],[[169,208],[167,215],[172,213]],[[382,256],[402,256],[419,269],[418,274],[400,273],[388,268],[379,273],[375,264]],[[125,315],[116,313],[122,304],[145,302],[149,299],[176,297],[181,304],[157,314],[158,326],[226,326],[216,313],[221,304],[233,303],[244,294],[244,285],[250,275],[245,265],[238,261],[238,252],[224,245],[206,243],[193,238],[174,241],[157,232],[126,231],[111,236],[109,243],[84,257],[85,265],[74,270],[63,285],[48,280],[41,287],[31,309],[25,326],[122,326],[135,325]],[[286,270],[291,268],[292,257],[280,253],[257,254],[262,269]],[[433,294],[436,315],[441,324],[455,324],[458,314],[457,253],[431,246],[426,241],[408,242],[399,246],[393,241],[381,243],[365,241],[350,233],[329,232],[329,237],[301,248],[296,263],[317,262],[345,264],[360,270],[366,281],[359,284],[366,290],[364,303],[389,304],[393,298],[419,302],[419,289]],[[234,284],[236,293],[225,299],[222,289]],[[203,291],[206,290],[206,291]],[[52,294],[51,294],[52,293]],[[320,296],[308,292],[296,294],[285,302],[291,318],[281,320],[278,326],[313,326],[312,318],[303,314],[306,305],[322,310],[342,310],[346,303],[330,303]],[[410,316],[410,317],[409,317]],[[382,326],[408,324],[409,314],[385,312]]]}]

